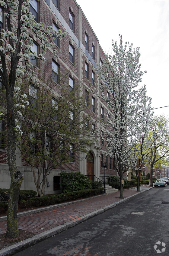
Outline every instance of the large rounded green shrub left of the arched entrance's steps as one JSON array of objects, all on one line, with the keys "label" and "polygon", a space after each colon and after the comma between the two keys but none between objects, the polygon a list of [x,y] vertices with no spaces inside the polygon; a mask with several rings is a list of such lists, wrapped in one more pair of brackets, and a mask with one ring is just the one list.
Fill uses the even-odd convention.
[{"label": "large rounded green shrub left of the arched entrance's steps", "polygon": [[91,189],[91,180],[80,172],[60,172],[61,186],[63,192]]}]

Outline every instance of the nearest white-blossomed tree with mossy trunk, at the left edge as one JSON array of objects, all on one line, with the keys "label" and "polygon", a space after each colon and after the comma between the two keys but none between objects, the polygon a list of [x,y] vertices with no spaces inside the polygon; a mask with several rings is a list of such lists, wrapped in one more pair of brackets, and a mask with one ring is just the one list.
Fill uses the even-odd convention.
[{"label": "nearest white-blossomed tree with mossy trunk, at the left edge", "polygon": [[[0,76],[6,95],[4,109],[7,112],[8,165],[11,175],[6,237],[17,237],[19,232],[17,225],[18,198],[21,183],[24,179],[15,163],[16,131],[20,130],[20,127],[15,124],[15,116],[16,111],[19,111],[17,112],[19,115],[22,113],[20,110],[16,110],[14,87],[25,76],[28,77],[28,80],[29,78],[35,78],[30,59],[45,61],[43,54],[48,47],[53,50],[53,55],[56,58],[58,57],[53,38],[62,38],[65,35],[60,30],[56,32],[51,26],[43,27],[42,23],[37,23],[34,20],[34,15],[29,11],[29,6],[29,0],[0,1],[1,15],[4,16],[5,20],[4,29],[2,26],[0,28]],[[39,55],[36,52],[30,52],[33,38],[29,36],[29,31],[39,39]]]}]

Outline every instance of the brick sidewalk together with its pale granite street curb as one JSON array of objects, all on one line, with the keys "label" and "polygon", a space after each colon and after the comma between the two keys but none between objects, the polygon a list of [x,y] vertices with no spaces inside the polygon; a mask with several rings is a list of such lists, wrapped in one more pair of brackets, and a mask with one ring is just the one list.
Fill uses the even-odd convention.
[{"label": "brick sidewalk together with its pale granite street curb", "polygon": [[[123,190],[123,199],[119,198],[120,191],[118,191],[112,194],[104,194],[18,213],[18,228],[35,235],[0,250],[0,256],[13,255],[97,214],[107,211],[150,188],[148,186],[141,186],[140,192],[137,192],[136,188]],[[3,234],[6,232],[6,216],[0,217],[0,221],[0,234]]]}]

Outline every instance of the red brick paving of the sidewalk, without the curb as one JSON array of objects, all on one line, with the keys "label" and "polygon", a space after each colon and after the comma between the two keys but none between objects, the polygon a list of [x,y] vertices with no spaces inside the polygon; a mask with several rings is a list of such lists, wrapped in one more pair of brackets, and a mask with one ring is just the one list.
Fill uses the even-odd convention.
[{"label": "red brick paving of the sidewalk, without the curb", "polygon": [[[134,189],[123,190],[123,198],[137,194]],[[55,209],[18,217],[18,228],[29,231],[33,234],[40,234],[53,227],[57,227],[71,220],[77,220],[85,214],[96,211],[107,205],[116,203],[121,200],[119,198],[120,191],[89,200],[76,202]],[[0,222],[0,234],[6,232],[7,221]]]}]

